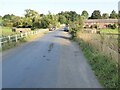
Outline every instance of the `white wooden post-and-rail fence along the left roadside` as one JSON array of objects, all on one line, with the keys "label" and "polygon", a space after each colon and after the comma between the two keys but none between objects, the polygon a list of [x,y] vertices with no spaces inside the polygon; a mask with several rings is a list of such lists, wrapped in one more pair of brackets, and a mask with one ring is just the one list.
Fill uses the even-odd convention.
[{"label": "white wooden post-and-rail fence along the left roadside", "polygon": [[35,35],[38,33],[44,33],[46,31],[48,31],[48,30],[40,29],[40,30],[36,30],[36,31],[30,31],[30,32],[11,35],[11,36],[1,37],[0,38],[0,48],[2,47],[2,44],[6,43],[6,42],[17,42],[20,38],[28,37],[29,35]]}]

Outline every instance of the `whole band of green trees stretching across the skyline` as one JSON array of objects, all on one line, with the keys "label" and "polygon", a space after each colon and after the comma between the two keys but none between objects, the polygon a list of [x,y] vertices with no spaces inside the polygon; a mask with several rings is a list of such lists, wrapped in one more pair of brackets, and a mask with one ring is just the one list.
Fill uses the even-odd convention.
[{"label": "whole band of green trees stretching across the skyline", "polygon": [[[79,21],[79,18],[88,19],[88,12],[86,10],[82,11],[82,14],[77,14],[75,11],[65,11],[58,14],[51,14],[49,12],[47,15],[39,14],[35,10],[26,9],[23,17],[15,16],[13,14],[6,14],[3,17],[0,16],[0,25],[5,27],[18,27],[18,28],[49,28],[50,26],[58,27],[60,24],[75,24]],[[110,17],[107,13],[103,13],[101,16],[99,10],[93,11],[90,19],[108,19],[117,18],[120,15],[113,10]],[[77,27],[79,24],[77,25]],[[115,26],[113,26],[114,28]]]}]

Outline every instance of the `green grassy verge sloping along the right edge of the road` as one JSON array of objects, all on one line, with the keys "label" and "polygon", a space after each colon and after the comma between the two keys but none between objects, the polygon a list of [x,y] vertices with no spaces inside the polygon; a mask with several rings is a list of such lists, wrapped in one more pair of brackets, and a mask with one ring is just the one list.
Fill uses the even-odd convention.
[{"label": "green grassy verge sloping along the right edge of the road", "polygon": [[107,57],[81,38],[75,38],[101,85],[105,88],[118,88],[118,63]]}]

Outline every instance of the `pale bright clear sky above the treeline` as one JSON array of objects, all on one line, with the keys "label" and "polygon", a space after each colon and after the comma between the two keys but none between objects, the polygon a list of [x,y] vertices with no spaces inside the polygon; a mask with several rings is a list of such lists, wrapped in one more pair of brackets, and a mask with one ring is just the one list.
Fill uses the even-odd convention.
[{"label": "pale bright clear sky above the treeline", "polygon": [[24,16],[25,9],[32,9],[40,14],[52,14],[61,11],[76,11],[81,14],[83,10],[91,13],[100,10],[102,13],[111,13],[112,10],[118,12],[119,0],[1,0],[0,15],[15,14]]}]

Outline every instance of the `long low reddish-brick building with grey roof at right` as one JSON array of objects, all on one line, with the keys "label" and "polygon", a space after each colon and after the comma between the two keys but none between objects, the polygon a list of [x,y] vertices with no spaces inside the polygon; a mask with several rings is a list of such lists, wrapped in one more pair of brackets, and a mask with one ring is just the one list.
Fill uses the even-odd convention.
[{"label": "long low reddish-brick building with grey roof at right", "polygon": [[99,28],[106,28],[109,24],[118,24],[118,19],[88,19],[84,21],[84,27],[97,24]]}]

